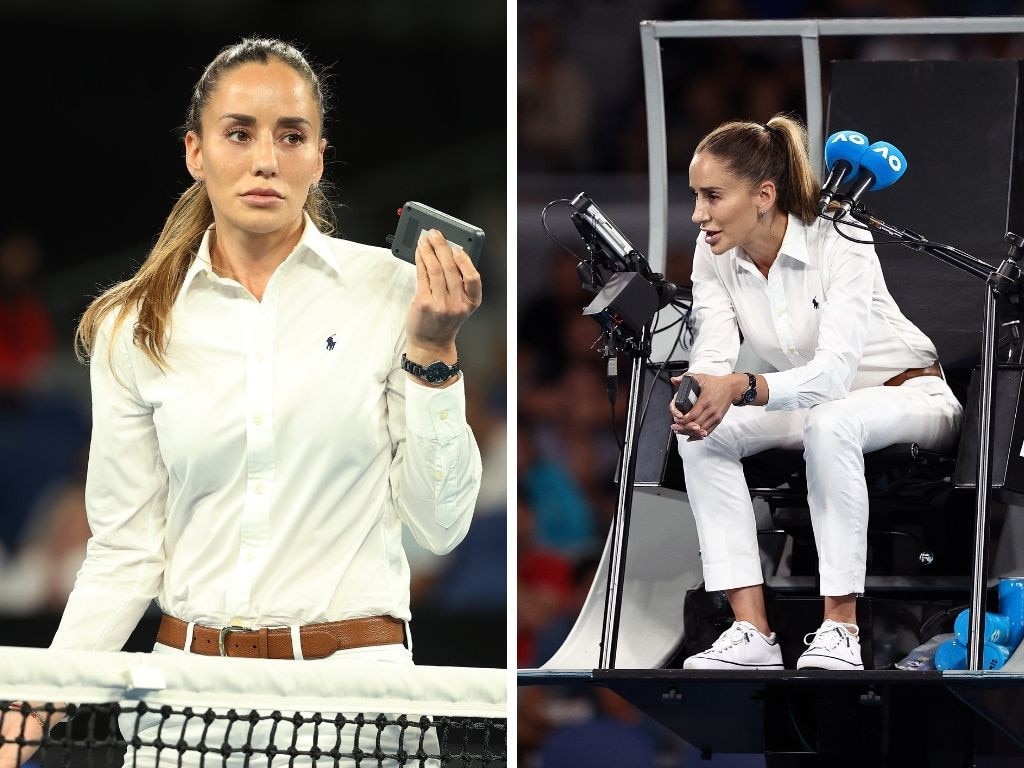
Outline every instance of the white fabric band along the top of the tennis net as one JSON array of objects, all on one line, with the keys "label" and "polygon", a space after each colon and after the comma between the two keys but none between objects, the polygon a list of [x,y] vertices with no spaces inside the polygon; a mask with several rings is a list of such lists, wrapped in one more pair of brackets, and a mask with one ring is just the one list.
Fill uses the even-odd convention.
[{"label": "white fabric band along the top of the tennis net", "polygon": [[0,647],[0,698],[504,718],[505,670]]}]

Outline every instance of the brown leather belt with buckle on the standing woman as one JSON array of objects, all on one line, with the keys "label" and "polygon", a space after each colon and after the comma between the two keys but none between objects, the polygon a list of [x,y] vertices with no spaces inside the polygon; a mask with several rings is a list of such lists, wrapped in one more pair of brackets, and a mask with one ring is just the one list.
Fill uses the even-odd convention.
[{"label": "brown leather belt with buckle on the standing woman", "polygon": [[[166,613],[160,620],[157,642],[184,649],[188,624]],[[324,658],[336,650],[372,645],[401,645],[406,624],[394,616],[368,616],[344,622],[308,624],[299,628],[303,658]],[[191,652],[204,656],[242,658],[294,658],[292,631],[288,627],[203,627],[193,629]]]}]

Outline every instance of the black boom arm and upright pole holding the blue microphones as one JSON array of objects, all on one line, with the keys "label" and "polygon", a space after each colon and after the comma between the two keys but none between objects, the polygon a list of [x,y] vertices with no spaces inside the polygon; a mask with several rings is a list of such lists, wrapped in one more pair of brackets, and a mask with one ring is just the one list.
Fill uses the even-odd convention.
[{"label": "black boom arm and upright pole holding the blue microphones", "polygon": [[[828,208],[838,208],[838,204],[829,204]],[[835,209],[834,209],[835,210]],[[907,248],[922,251],[935,256],[947,264],[951,264],[975,278],[985,281],[988,290],[985,291],[985,313],[981,344],[981,381],[978,391],[978,471],[977,471],[977,502],[974,518],[974,565],[971,574],[971,609],[968,627],[968,670],[977,672],[982,665],[982,645],[985,617],[985,593],[988,589],[988,543],[989,520],[988,510],[992,485],[992,407],[995,390],[995,357],[997,353],[997,314],[998,300],[1021,295],[1024,289],[1022,272],[1019,266],[1020,249],[1024,248],[1024,238],[1013,232],[1007,232],[1006,242],[1010,251],[998,267],[992,267],[970,254],[949,246],[927,243],[921,234],[909,229],[901,229],[886,223],[882,219],[864,210],[858,204],[850,215],[872,229],[890,234],[901,240],[919,241],[903,242]]]}]

